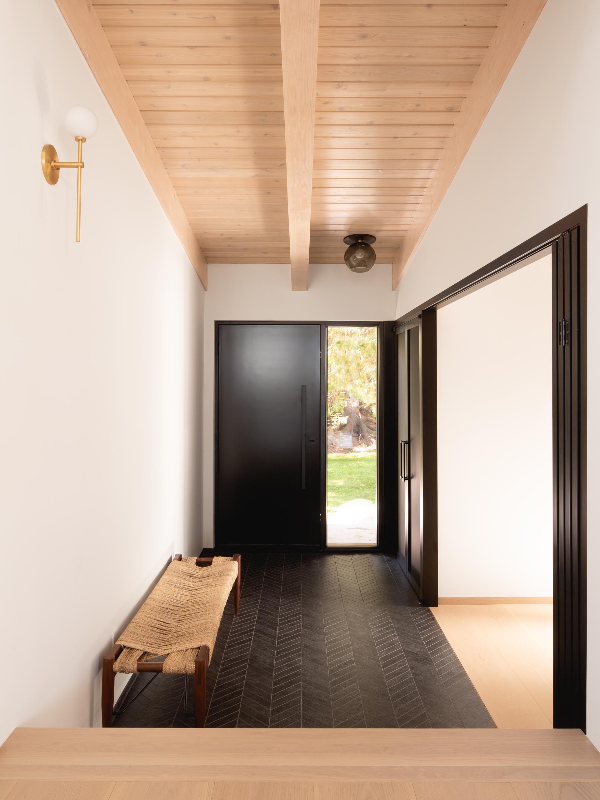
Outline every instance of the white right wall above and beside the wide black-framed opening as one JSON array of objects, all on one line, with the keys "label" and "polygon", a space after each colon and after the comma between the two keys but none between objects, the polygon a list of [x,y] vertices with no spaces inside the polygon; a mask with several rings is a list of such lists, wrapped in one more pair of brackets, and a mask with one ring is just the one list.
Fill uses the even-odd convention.
[{"label": "white right wall above and beside the wide black-framed opening", "polygon": [[600,3],[548,0],[397,292],[398,314],[588,203],[588,734],[600,746]]}]

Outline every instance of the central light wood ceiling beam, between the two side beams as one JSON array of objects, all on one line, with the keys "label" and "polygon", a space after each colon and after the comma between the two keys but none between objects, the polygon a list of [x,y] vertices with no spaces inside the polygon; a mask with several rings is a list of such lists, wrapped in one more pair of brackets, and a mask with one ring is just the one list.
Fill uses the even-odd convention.
[{"label": "central light wood ceiling beam, between the two side beams", "polygon": [[319,0],[280,0],[292,290],[308,289]]}]

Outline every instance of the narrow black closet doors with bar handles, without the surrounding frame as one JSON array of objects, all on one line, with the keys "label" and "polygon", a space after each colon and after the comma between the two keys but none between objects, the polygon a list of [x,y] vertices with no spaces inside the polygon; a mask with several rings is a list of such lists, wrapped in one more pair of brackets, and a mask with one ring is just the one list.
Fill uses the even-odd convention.
[{"label": "narrow black closet doors with bar handles, without the surrounding frame", "polygon": [[398,551],[422,597],[421,326],[398,335]]}]

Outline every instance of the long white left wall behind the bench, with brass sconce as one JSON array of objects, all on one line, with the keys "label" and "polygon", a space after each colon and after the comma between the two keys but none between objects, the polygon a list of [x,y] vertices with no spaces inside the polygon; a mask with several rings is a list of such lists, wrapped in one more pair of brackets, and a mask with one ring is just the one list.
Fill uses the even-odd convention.
[{"label": "long white left wall behind the bench, with brass sconce", "polygon": [[[0,26],[0,742],[98,724],[114,628],[202,546],[204,291],[54,2]],[[90,106],[82,242],[76,143]]]}]

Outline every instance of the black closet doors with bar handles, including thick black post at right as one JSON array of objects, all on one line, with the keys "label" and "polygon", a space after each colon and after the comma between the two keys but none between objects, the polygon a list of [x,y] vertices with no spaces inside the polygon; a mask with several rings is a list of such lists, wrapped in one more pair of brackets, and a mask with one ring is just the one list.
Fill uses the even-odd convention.
[{"label": "black closet doors with bar handles, including thick black post at right", "polygon": [[435,312],[398,329],[398,555],[426,606],[438,605]]}]

